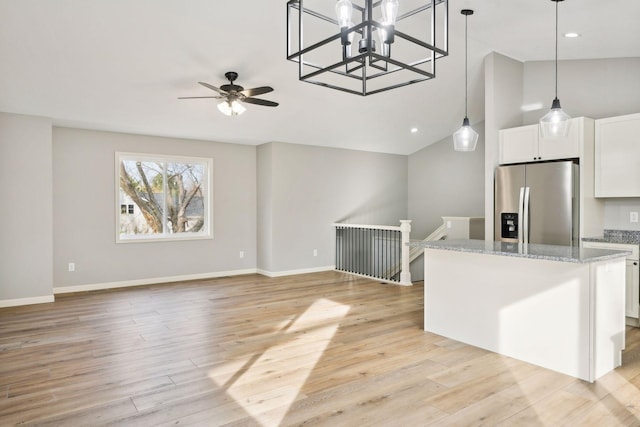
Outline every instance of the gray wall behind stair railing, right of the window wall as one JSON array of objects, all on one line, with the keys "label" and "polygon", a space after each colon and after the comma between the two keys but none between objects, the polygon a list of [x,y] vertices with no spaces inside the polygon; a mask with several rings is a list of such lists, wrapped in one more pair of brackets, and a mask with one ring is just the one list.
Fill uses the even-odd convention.
[{"label": "gray wall behind stair railing, right of the window wall", "polygon": [[261,270],[332,266],[332,223],[400,225],[407,217],[407,156],[269,143],[258,165],[258,199],[268,208],[258,213],[258,252],[270,254],[258,260]]}]

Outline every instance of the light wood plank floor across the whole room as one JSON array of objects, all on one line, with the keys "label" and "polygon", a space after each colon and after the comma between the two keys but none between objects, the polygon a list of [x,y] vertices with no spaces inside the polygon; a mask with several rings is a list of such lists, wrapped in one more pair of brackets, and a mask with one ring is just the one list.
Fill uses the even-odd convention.
[{"label": "light wood plank floor across the whole room", "polygon": [[640,426],[640,330],[588,384],[423,332],[422,291],[249,275],[0,309],[0,425]]}]

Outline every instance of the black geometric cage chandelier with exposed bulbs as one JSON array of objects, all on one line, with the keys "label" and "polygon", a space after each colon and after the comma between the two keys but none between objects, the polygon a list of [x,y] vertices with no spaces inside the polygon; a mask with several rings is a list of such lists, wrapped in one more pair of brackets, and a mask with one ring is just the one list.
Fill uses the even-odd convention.
[{"label": "black geometric cage chandelier with exposed bulbs", "polygon": [[448,55],[448,0],[289,0],[301,81],[356,95],[430,80]]}]

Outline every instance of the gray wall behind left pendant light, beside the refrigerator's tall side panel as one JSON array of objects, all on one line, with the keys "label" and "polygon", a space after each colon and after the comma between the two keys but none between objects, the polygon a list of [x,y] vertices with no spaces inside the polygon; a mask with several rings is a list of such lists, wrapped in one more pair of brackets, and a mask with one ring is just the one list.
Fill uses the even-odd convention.
[{"label": "gray wall behind left pendant light, beside the refrigerator's tall side panel", "polygon": [[453,150],[453,137],[409,156],[409,219],[412,239],[424,239],[443,216],[484,216],[484,122],[473,152]]}]

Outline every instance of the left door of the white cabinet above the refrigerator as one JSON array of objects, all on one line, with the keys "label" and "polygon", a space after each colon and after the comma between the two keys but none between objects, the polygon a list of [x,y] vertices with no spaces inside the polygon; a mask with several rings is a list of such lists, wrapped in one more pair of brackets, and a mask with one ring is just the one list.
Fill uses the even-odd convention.
[{"label": "left door of the white cabinet above the refrigerator", "polygon": [[502,165],[538,160],[538,125],[501,130],[498,150]]}]

